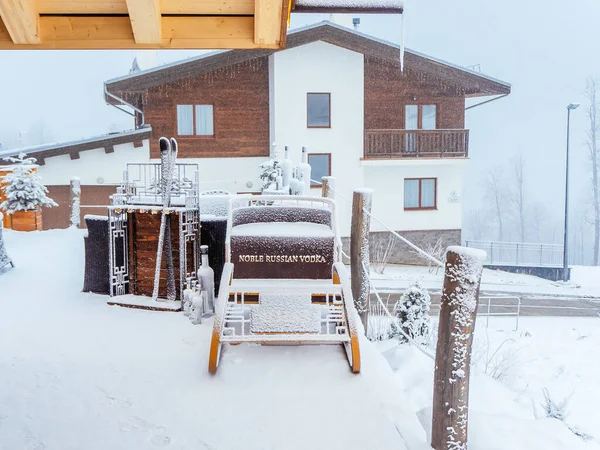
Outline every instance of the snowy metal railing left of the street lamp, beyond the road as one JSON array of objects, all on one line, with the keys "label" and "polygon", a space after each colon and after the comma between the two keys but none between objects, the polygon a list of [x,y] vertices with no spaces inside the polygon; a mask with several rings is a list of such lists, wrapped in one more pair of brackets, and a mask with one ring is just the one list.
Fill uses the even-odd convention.
[{"label": "snowy metal railing left of the street lamp, beyond the road", "polygon": [[562,267],[563,246],[527,242],[465,241],[467,247],[485,250],[487,266]]}]

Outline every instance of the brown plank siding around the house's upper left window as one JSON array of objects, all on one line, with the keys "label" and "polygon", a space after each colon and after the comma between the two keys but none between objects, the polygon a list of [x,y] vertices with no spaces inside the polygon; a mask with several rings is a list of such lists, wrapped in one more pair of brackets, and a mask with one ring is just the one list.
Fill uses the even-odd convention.
[{"label": "brown plank siding around the house's upper left window", "polygon": [[[256,58],[148,89],[150,157],[159,157],[161,136],[177,139],[181,158],[268,156],[268,67],[267,57]],[[177,105],[213,105],[214,136],[178,136]]]}]

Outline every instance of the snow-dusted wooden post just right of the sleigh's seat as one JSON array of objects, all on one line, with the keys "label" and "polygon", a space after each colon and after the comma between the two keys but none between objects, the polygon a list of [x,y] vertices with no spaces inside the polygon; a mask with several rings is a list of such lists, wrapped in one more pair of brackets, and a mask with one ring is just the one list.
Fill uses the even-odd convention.
[{"label": "snow-dusted wooden post just right of the sleigh's seat", "polygon": [[[352,197],[352,228],[350,229],[350,274],[354,304],[360,314],[365,333],[369,317],[369,230],[373,191],[356,189]],[[364,263],[364,264],[363,264]],[[366,267],[366,268],[365,268]]]}]

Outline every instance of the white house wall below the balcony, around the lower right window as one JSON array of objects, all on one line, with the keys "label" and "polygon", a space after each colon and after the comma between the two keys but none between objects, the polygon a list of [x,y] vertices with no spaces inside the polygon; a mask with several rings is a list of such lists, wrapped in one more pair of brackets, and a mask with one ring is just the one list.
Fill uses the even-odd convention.
[{"label": "white house wall below the balcony, around the lower right window", "polygon": [[[463,172],[467,160],[402,160],[363,163],[365,187],[373,189],[373,214],[395,230],[462,227]],[[404,179],[437,178],[437,209],[404,211]],[[457,201],[458,200],[458,201]],[[371,221],[371,230],[384,231]]]}]

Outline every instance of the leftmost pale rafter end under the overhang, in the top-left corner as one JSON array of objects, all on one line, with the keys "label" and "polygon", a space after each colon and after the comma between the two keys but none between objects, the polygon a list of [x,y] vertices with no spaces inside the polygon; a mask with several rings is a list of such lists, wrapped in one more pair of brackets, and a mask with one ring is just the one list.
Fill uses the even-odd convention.
[{"label": "leftmost pale rafter end under the overhang, in the top-left corner", "polygon": [[15,44],[40,43],[35,0],[0,0],[0,17]]}]

